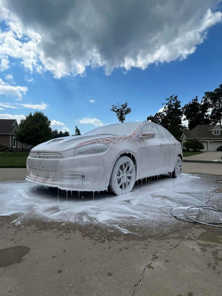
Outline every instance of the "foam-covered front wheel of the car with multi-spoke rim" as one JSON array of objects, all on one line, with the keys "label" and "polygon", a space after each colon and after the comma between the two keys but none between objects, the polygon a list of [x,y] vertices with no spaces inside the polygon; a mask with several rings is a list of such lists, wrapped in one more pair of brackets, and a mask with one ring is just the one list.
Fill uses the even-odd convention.
[{"label": "foam-covered front wheel of the car with multi-spoke rim", "polygon": [[115,162],[110,177],[110,190],[116,195],[127,194],[133,189],[136,168],[130,157],[122,155]]}]

